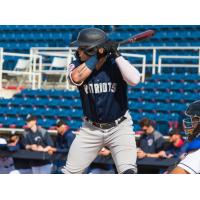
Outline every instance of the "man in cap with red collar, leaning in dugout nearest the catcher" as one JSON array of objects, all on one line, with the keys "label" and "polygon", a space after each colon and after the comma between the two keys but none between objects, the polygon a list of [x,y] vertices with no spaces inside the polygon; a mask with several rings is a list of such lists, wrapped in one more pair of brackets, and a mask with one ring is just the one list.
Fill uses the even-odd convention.
[{"label": "man in cap with red collar, leaning in dugout nearest the catcher", "polygon": [[169,133],[169,146],[167,148],[168,158],[177,157],[183,158],[188,149],[188,142],[186,142],[180,130],[175,128]]}]

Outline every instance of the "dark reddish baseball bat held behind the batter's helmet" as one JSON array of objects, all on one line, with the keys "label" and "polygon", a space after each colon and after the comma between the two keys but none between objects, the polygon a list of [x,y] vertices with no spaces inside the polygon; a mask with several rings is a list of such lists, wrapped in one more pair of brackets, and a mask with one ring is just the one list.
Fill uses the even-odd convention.
[{"label": "dark reddish baseball bat held behind the batter's helmet", "polygon": [[144,31],[142,33],[139,33],[137,35],[132,36],[129,39],[126,39],[126,40],[123,40],[123,41],[119,42],[119,46],[130,44],[130,43],[135,43],[135,42],[140,42],[140,41],[145,40],[145,39],[149,39],[154,34],[155,34],[154,30]]}]

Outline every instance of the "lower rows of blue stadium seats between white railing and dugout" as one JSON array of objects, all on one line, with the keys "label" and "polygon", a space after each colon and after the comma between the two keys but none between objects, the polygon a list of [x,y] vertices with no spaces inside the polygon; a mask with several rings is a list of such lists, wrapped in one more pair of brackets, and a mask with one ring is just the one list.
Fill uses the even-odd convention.
[{"label": "lower rows of blue stadium seats between white railing and dugout", "polygon": [[[161,79],[158,75],[153,76],[136,88],[128,89],[129,108],[137,130],[139,120],[148,117],[156,122],[163,134],[167,134],[170,122],[177,122],[179,114],[186,109],[189,102],[200,98],[199,83],[195,85],[190,79],[187,80],[186,77],[189,76],[184,76],[184,82],[179,83],[165,82],[169,75],[165,76],[166,79],[163,79],[163,75],[160,77]],[[156,82],[152,82],[152,79]],[[19,119],[24,121],[29,113],[41,117],[39,124],[45,128],[54,126],[59,117],[68,120],[73,129],[78,129],[82,121],[78,91],[26,89],[12,99],[1,99],[0,107],[0,114],[4,116],[1,120],[3,127],[13,124],[15,127],[23,127],[24,124]]]}]

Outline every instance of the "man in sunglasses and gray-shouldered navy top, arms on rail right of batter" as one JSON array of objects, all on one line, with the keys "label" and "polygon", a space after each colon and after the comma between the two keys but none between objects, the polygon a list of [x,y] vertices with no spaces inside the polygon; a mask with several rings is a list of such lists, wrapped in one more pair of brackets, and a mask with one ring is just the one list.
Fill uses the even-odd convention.
[{"label": "man in sunglasses and gray-shouldered navy top, arms on rail right of batter", "polygon": [[155,130],[152,121],[144,118],[140,121],[143,134],[139,139],[139,149],[137,156],[139,159],[149,158],[165,158],[164,151],[165,140],[160,132]]}]

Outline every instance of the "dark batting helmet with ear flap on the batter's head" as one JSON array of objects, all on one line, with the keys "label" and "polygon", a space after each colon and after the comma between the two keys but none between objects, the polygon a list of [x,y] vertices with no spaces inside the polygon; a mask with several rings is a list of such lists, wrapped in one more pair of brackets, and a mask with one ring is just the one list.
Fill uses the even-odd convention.
[{"label": "dark batting helmet with ear flap on the batter's head", "polygon": [[77,40],[71,46],[85,47],[84,51],[88,55],[94,55],[96,48],[107,41],[106,33],[98,28],[86,28],[79,32]]}]

